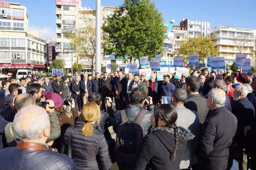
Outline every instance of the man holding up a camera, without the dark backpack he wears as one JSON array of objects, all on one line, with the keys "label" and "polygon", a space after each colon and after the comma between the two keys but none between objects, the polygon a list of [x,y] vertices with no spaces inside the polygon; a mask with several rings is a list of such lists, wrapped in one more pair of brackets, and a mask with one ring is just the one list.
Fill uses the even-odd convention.
[{"label": "man holding up a camera, without the dark backpack he wears", "polygon": [[[148,97],[148,100],[146,99],[146,93],[144,90],[141,89],[134,89],[129,97],[130,104],[126,107],[126,115],[128,118],[128,121],[134,121],[144,104],[148,105],[148,111],[142,118],[142,121],[140,121],[140,125],[144,128],[145,135],[149,133],[150,129],[150,115],[154,111],[154,105],[152,102],[152,97]],[[116,111],[115,117],[114,117],[114,122],[113,122],[113,130],[116,133],[117,128],[121,123],[120,119],[120,111]]]}]

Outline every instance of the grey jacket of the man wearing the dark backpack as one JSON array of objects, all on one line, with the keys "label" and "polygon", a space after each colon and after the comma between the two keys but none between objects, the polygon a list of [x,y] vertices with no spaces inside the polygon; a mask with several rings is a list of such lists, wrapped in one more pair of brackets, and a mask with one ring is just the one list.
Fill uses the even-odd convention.
[{"label": "grey jacket of the man wearing the dark backpack", "polygon": [[[153,104],[148,106],[148,111],[140,121],[140,125],[144,128],[145,135],[148,134],[148,132],[151,129],[151,121],[150,121],[150,115],[153,113],[155,106]],[[128,121],[134,121],[140,110],[142,109],[142,106],[140,104],[128,104],[125,111],[128,118]],[[113,120],[113,130],[116,133],[117,128],[121,123],[120,119],[120,110],[116,111],[114,120]]]}]

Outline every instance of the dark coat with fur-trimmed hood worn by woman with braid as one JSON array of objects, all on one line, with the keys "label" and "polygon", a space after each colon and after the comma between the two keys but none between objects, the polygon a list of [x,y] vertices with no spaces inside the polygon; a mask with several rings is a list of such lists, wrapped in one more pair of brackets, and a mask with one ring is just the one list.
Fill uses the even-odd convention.
[{"label": "dark coat with fur-trimmed hood worn by woman with braid", "polygon": [[188,140],[194,135],[188,129],[178,128],[176,158],[174,130],[170,127],[156,127],[143,139],[142,149],[136,159],[135,170],[179,170],[180,160]]}]

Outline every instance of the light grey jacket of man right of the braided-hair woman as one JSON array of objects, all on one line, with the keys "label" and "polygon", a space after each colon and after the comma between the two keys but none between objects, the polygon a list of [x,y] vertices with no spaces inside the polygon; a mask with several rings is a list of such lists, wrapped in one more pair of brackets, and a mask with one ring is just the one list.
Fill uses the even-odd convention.
[{"label": "light grey jacket of man right of the braided-hair woman", "polygon": [[187,109],[185,106],[176,106],[175,110],[178,114],[176,125],[188,129],[195,136],[193,140],[188,141],[184,149],[184,154],[180,162],[180,169],[186,169],[189,166],[198,163],[198,159],[194,155],[194,149],[199,138],[199,118],[196,111]]}]

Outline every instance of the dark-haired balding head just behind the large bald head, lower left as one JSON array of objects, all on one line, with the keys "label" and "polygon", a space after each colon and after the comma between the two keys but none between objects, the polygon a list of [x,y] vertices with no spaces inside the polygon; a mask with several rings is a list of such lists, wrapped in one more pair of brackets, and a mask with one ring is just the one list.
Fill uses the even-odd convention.
[{"label": "dark-haired balding head just behind the large bald head, lower left", "polygon": [[32,94],[29,94],[29,93],[19,94],[14,100],[14,107],[16,111],[19,111],[24,107],[31,106],[34,104],[35,104],[35,99],[32,96]]}]

